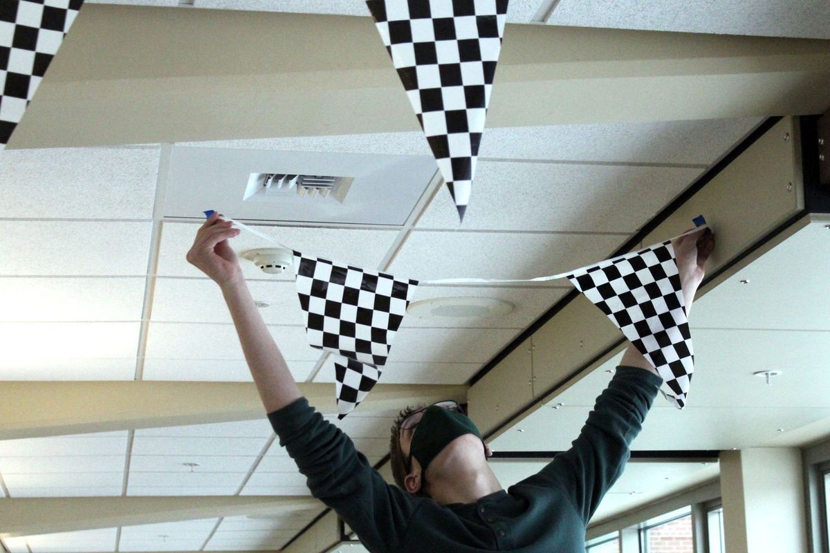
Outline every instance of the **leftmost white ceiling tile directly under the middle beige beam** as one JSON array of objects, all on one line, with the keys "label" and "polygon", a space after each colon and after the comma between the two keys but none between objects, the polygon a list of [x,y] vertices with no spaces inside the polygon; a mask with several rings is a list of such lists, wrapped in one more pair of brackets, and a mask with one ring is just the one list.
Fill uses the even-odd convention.
[{"label": "leftmost white ceiling tile directly under the middle beige beam", "polygon": [[[3,439],[0,440],[0,457],[124,455],[127,450],[127,433],[119,434]],[[67,459],[67,462],[71,462],[71,459]]]}]

